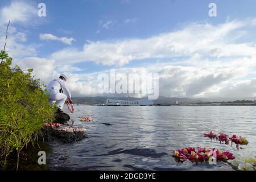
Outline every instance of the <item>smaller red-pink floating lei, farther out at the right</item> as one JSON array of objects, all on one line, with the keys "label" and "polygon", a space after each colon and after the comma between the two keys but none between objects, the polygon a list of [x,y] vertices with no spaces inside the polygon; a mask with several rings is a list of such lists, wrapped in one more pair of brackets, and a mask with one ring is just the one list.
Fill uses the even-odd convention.
[{"label": "smaller red-pink floating lei, farther out at the right", "polygon": [[[221,142],[225,142],[225,144],[229,144],[229,140],[232,143],[236,143],[237,144],[237,149],[239,149],[239,144],[241,145],[247,145],[249,142],[242,137],[238,137],[237,135],[232,135],[232,137],[229,137],[228,135],[224,134],[224,133],[219,133],[219,135],[217,136],[216,134],[214,134],[212,131],[210,131],[209,133],[204,133],[204,137],[208,137],[210,139],[216,139],[218,141]],[[231,146],[232,146],[231,143]]]}]

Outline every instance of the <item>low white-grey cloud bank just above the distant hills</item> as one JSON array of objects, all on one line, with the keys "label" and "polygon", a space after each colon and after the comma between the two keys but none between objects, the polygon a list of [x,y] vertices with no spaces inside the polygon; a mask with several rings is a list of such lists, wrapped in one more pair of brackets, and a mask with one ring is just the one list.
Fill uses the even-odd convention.
[{"label": "low white-grey cloud bank just above the distant hills", "polygon": [[[141,80],[146,80],[144,73],[159,73],[159,94],[166,97],[245,97],[254,96],[256,81],[242,81],[247,73],[255,69],[255,57],[226,61],[204,61],[200,58],[186,65],[176,63],[154,63],[133,68],[116,68],[118,73],[137,73]],[[35,68],[37,76],[48,83],[49,80],[65,72],[69,80],[67,85],[73,96],[100,96],[97,92],[99,84],[97,76],[100,73],[110,74],[107,69],[93,73],[72,73],[79,71],[72,65],[58,65],[54,60],[30,57],[20,63],[24,68]],[[256,79],[256,78],[255,78]],[[240,80],[240,81],[237,81]],[[246,90],[243,90],[246,89]],[[244,92],[243,92],[244,91]],[[131,96],[133,96],[131,94]],[[143,94],[135,95],[138,97]]]}]

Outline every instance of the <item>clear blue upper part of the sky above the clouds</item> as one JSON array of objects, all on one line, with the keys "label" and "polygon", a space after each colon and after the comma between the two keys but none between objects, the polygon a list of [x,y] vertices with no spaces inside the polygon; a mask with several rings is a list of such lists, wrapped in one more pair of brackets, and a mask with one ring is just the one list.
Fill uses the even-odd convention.
[{"label": "clear blue upper part of the sky above the clouds", "polygon": [[[35,6],[42,1],[34,1]],[[148,38],[179,29],[189,22],[222,23],[227,18],[247,18],[255,15],[256,2],[247,1],[43,1],[47,16],[43,24],[30,32],[28,43],[40,42],[38,34],[49,32],[53,35],[72,36],[72,46],[81,48],[86,40],[111,40],[125,38]],[[208,5],[216,2],[218,16],[208,16]],[[2,1],[8,5],[10,1]],[[2,5],[1,5],[2,6]],[[40,20],[40,19],[39,19]],[[130,20],[130,21],[129,21]],[[102,27],[111,21],[109,28]],[[128,21],[127,23],[125,23]],[[97,33],[100,31],[100,33]],[[39,56],[65,48],[60,42],[45,44]],[[93,69],[93,67],[91,67]],[[96,68],[97,69],[97,68]],[[92,70],[93,71],[93,70]]]}]

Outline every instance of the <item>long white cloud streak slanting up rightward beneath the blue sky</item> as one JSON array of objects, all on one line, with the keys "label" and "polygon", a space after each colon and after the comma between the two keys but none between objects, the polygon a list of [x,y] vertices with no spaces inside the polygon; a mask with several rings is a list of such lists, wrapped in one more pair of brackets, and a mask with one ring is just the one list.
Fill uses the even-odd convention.
[{"label": "long white cloud streak slanting up rightward beneath the blue sky", "polygon": [[[124,65],[134,60],[170,58],[199,54],[217,59],[220,57],[255,55],[255,43],[235,43],[230,36],[249,25],[253,20],[218,24],[189,24],[181,30],[147,39],[122,39],[90,42],[78,49],[63,49],[52,53],[56,61],[73,63],[93,61],[103,65]],[[200,32],[200,34],[199,34]]]}]

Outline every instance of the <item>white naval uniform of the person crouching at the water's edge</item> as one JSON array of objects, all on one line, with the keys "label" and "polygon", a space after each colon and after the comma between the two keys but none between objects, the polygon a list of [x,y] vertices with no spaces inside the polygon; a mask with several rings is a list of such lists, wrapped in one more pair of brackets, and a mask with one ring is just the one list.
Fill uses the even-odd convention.
[{"label": "white naval uniform of the person crouching at the water's edge", "polygon": [[[54,79],[47,85],[47,93],[49,93],[49,105],[52,105],[56,101],[56,104],[60,109],[63,109],[65,101],[71,99],[71,93],[69,92],[65,82],[60,78]],[[60,93],[60,89],[63,93]]]}]

